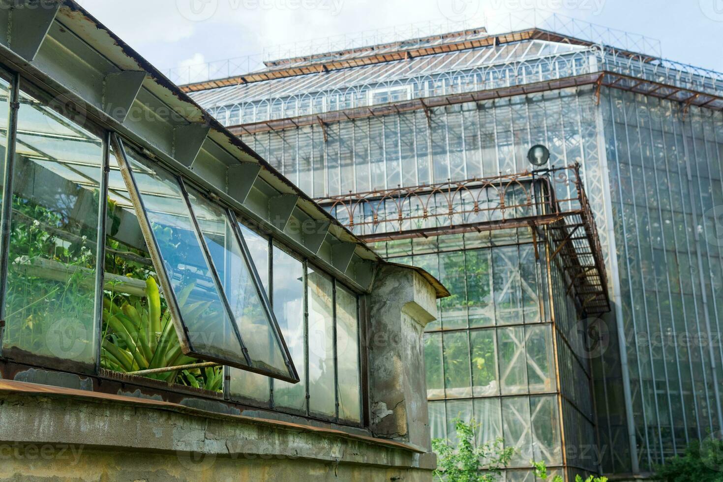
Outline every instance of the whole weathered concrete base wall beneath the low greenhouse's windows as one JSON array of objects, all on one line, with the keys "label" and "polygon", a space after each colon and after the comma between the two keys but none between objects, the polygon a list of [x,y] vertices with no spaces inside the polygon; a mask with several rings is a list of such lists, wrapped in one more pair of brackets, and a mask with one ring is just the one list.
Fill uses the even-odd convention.
[{"label": "whole weathered concrete base wall beneath the low greenhouse's windows", "polygon": [[155,400],[68,389],[46,395],[35,387],[42,386],[0,386],[0,479],[432,480],[419,468],[420,454],[403,444]]}]

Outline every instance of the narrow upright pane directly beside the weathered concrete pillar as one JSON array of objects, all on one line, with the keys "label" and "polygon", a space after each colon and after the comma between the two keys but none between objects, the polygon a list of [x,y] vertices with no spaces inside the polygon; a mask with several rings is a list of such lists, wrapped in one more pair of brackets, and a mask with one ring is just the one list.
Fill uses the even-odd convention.
[{"label": "narrow upright pane directly beside the weathered concrete pillar", "polygon": [[338,353],[339,418],[361,421],[359,378],[359,314],[356,295],[336,285],[336,350]]}]

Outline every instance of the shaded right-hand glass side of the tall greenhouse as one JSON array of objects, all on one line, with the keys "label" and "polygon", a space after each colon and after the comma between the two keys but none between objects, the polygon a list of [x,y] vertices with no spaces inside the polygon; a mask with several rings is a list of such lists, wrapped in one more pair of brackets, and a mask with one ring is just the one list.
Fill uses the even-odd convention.
[{"label": "shaded right-hand glass side of the tall greenhouse", "polygon": [[649,470],[723,428],[723,116],[619,90],[601,105],[638,459]]}]

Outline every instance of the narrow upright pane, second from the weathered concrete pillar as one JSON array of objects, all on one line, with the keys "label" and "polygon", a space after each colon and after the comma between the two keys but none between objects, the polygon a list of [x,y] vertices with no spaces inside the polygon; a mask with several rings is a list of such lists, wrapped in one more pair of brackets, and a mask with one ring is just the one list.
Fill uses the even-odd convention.
[{"label": "narrow upright pane, second from the weathered concrete pillar", "polygon": [[309,267],[309,411],[335,416],[333,284]]}]

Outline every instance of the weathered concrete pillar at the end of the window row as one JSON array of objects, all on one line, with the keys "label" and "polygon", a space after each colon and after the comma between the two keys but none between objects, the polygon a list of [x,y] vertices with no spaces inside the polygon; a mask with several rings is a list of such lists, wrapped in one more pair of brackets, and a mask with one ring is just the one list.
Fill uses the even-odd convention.
[{"label": "weathered concrete pillar at the end of the window row", "polygon": [[427,452],[422,334],[436,313],[435,291],[418,272],[392,265],[380,269],[369,296],[371,429],[375,436],[405,440]]}]

